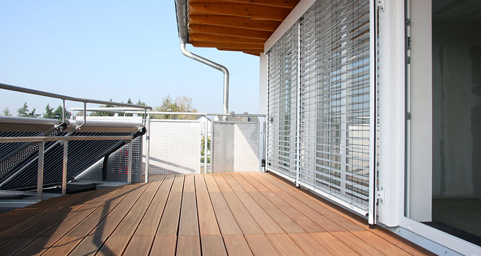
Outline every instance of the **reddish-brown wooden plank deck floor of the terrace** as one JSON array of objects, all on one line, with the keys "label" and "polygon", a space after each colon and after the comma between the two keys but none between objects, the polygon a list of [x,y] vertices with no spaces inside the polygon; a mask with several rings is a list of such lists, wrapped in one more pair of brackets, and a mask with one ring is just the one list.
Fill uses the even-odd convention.
[{"label": "reddish-brown wooden plank deck floor of the terrace", "polygon": [[272,174],[153,178],[0,215],[0,254],[431,254]]}]

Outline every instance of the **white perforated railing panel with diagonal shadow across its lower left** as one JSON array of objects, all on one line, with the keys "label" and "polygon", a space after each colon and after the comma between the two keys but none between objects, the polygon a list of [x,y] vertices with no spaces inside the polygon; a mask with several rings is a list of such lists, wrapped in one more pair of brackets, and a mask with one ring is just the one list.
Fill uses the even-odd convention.
[{"label": "white perforated railing panel with diagonal shadow across its lower left", "polygon": [[199,120],[151,119],[149,154],[149,174],[200,174]]}]

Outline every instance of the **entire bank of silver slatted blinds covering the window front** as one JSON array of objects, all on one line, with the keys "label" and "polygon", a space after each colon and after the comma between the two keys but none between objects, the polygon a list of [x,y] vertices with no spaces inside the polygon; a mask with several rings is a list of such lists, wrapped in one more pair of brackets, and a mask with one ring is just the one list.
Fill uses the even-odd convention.
[{"label": "entire bank of silver slatted blinds covering the window front", "polygon": [[267,169],[369,209],[369,1],[318,0],[269,50]]}]

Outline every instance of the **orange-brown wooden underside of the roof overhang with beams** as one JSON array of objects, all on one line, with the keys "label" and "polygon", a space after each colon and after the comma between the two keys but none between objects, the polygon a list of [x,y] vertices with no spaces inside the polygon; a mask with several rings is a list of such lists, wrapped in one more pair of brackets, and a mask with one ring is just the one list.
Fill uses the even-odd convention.
[{"label": "orange-brown wooden underside of the roof overhang with beams", "polygon": [[189,44],[259,56],[299,0],[190,0]]}]

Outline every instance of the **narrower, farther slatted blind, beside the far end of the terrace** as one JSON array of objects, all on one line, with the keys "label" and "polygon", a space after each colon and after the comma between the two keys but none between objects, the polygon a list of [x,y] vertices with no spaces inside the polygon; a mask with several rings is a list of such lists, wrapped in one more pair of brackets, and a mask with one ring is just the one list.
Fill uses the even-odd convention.
[{"label": "narrower, farther slatted blind, beside the far end of the terrace", "polygon": [[297,25],[269,53],[267,117],[268,168],[296,178]]}]

